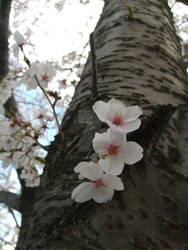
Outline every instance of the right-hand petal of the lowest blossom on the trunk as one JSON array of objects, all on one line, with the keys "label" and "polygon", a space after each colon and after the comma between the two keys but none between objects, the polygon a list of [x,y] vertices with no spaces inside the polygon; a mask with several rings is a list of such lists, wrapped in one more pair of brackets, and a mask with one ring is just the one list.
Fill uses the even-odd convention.
[{"label": "right-hand petal of the lowest blossom on the trunk", "polygon": [[111,187],[114,190],[124,190],[123,183],[121,179],[117,176],[111,174],[104,174],[102,177],[102,182],[105,186]]}]

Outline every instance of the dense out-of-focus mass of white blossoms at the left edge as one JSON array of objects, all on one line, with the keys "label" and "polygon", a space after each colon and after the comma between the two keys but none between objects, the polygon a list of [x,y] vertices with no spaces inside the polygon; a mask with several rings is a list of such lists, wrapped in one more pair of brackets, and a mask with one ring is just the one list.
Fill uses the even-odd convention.
[{"label": "dense out-of-focus mass of white blossoms at the left edge", "polygon": [[[50,119],[47,117],[37,114],[36,119],[31,122],[25,121],[21,116],[1,119],[0,160],[2,160],[2,167],[14,165],[15,168],[22,168],[20,177],[29,187],[39,185],[40,175],[37,169],[43,167],[44,152],[41,151],[40,144],[37,144],[37,139],[43,135],[47,126],[46,120]],[[40,123],[35,123],[39,120]]]}]

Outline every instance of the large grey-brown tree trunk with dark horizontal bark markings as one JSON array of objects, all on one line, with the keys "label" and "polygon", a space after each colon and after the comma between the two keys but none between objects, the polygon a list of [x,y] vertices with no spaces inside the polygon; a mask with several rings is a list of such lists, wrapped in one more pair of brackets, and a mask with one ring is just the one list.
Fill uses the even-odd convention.
[{"label": "large grey-brown tree trunk with dark horizontal bark markings", "polygon": [[[94,35],[97,96],[89,57],[62,122],[65,140],[58,135],[50,147],[17,250],[185,250],[188,87],[167,1],[106,0]],[[106,128],[92,105],[113,97],[142,107],[142,127],[128,139],[143,146],[145,157],[125,168],[126,188],[111,202],[77,204],[70,198],[79,183],[73,168],[95,160],[93,136]]]}]

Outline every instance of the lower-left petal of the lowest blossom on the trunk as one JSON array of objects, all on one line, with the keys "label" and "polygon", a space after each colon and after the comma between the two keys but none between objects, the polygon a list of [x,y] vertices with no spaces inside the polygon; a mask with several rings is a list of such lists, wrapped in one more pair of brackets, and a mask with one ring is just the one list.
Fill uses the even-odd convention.
[{"label": "lower-left petal of the lowest blossom on the trunk", "polygon": [[83,182],[72,191],[71,198],[79,203],[89,201],[93,198],[94,190],[92,182]]}]

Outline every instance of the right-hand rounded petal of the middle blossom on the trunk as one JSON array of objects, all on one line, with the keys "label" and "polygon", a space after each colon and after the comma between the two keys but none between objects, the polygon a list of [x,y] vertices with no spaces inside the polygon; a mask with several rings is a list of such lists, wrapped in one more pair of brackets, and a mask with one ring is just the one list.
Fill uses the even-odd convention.
[{"label": "right-hand rounded petal of the middle blossom on the trunk", "polygon": [[143,148],[136,142],[127,142],[126,146],[121,148],[120,157],[128,165],[135,164],[143,157]]}]

